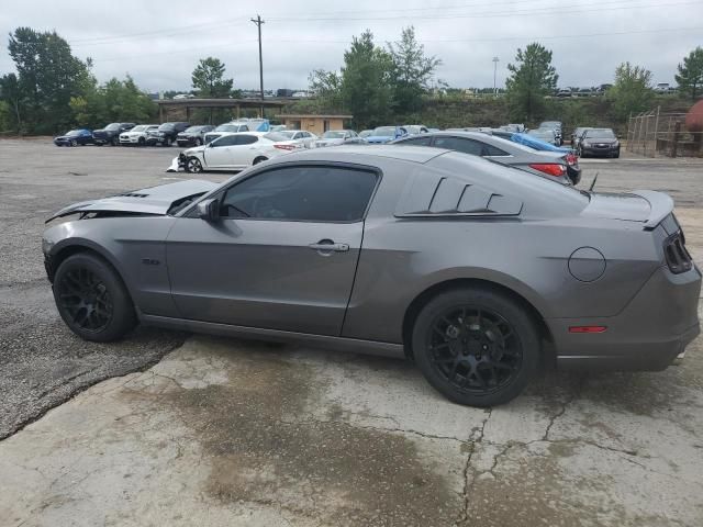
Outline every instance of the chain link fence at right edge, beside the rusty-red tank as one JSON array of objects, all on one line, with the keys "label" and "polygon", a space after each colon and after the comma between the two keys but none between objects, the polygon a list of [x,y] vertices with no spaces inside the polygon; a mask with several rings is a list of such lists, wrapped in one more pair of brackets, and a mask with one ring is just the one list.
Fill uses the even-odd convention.
[{"label": "chain link fence at right edge, beside the rusty-red tank", "polygon": [[631,116],[625,149],[645,157],[703,157],[703,132],[687,132],[685,113],[660,109]]}]

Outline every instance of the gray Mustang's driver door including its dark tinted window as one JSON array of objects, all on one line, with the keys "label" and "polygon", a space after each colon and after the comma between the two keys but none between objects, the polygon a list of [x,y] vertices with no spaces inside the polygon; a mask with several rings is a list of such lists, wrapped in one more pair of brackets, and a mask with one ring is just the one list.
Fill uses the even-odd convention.
[{"label": "gray Mustang's driver door including its dark tinted window", "polygon": [[181,316],[338,336],[378,180],[358,167],[275,167],[225,189],[217,221],[178,218],[167,259]]}]

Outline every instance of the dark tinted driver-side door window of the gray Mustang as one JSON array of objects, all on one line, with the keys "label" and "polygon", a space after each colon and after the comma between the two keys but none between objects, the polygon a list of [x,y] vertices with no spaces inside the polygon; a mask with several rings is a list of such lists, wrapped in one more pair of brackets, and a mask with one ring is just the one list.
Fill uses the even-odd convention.
[{"label": "dark tinted driver-side door window of the gray Mustang", "polygon": [[224,195],[222,215],[303,222],[357,222],[377,176],[338,167],[287,167],[236,183]]}]

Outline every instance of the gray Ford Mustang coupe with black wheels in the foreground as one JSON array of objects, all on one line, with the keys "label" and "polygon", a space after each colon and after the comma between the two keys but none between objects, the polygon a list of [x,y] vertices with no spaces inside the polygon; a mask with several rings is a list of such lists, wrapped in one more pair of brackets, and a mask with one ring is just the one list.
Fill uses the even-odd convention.
[{"label": "gray Ford Mustang coupe with black wheels in the foreground", "polygon": [[85,339],[141,322],[408,357],[491,406],[543,359],[659,370],[683,352],[701,272],[672,209],[445,149],[341,146],[70,205],[43,250]]}]

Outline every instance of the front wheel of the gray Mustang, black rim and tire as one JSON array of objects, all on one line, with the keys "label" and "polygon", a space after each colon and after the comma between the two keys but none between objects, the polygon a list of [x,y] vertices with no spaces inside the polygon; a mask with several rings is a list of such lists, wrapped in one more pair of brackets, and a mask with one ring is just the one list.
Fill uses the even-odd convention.
[{"label": "front wheel of the gray Mustang, black rim and tire", "polygon": [[122,279],[96,255],[78,253],[66,258],[56,270],[52,289],[62,318],[85,340],[116,340],[136,325]]}]

